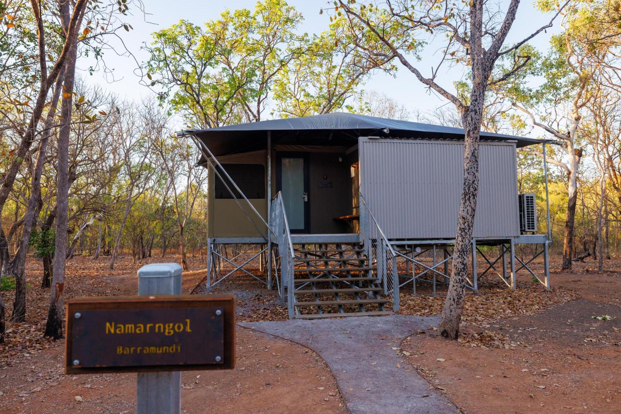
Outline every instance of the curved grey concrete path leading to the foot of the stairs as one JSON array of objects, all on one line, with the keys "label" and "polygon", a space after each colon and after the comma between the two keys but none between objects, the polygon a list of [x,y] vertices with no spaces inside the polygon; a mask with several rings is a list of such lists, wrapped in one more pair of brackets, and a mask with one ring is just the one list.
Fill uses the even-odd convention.
[{"label": "curved grey concrete path leading to the foot of the stairs", "polygon": [[317,352],[337,379],[351,414],[455,413],[455,406],[393,349],[430,324],[437,324],[437,317],[358,316],[239,325]]}]

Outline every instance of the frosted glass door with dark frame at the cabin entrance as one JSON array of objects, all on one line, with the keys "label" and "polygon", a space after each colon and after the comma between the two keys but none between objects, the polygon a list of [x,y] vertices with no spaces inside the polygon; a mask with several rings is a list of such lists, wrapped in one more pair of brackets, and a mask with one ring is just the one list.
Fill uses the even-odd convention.
[{"label": "frosted glass door with dark frame at the cabin entrance", "polygon": [[291,232],[308,232],[308,179],[304,157],[279,158],[279,190],[283,192],[284,211]]}]

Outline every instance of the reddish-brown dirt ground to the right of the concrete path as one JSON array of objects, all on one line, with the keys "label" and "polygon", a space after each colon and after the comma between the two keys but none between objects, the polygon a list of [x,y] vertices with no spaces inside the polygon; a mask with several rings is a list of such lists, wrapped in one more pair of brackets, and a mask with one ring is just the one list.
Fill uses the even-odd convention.
[{"label": "reddish-brown dirt ground to the right of the concrete path", "polygon": [[608,273],[592,270],[593,262],[575,264],[580,273],[553,272],[553,287],[577,300],[535,315],[487,318],[487,329],[463,325],[461,343],[431,328],[406,339],[402,351],[466,413],[621,413],[620,264],[608,262],[615,270]]}]

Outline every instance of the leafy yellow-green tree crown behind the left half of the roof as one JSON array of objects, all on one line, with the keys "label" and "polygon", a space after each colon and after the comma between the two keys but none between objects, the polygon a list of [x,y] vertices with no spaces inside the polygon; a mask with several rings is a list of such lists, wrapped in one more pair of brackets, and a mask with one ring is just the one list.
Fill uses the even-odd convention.
[{"label": "leafy yellow-green tree crown behind the left half of the roof", "polygon": [[145,45],[148,85],[189,126],[260,121],[274,78],[299,55],[301,20],[284,0],[264,0],[202,27],[179,21]]}]

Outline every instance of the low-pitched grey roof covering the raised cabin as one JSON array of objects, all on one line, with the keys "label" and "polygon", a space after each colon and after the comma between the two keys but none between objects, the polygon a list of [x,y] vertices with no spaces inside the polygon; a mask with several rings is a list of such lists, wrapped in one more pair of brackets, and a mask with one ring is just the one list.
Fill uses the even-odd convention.
[{"label": "low-pitched grey roof covering the raised cabin", "polygon": [[[386,131],[384,131],[386,130]],[[373,131],[378,132],[381,137],[403,136],[408,138],[425,139],[463,139],[464,130],[461,128],[447,127],[433,124],[423,124],[421,122],[399,121],[397,119],[387,119],[374,116],[350,114],[350,113],[330,113],[314,116],[304,116],[286,119],[273,119],[270,121],[250,122],[247,124],[227,125],[210,129],[187,129],[179,132],[179,135],[196,134],[200,137],[214,138],[247,138],[251,134],[263,139],[263,135],[256,134],[260,131],[357,131],[359,136],[373,135]],[[527,137],[510,136],[496,134],[494,132],[481,131],[482,140],[515,140],[517,147],[526,145],[542,144],[543,142],[553,143],[553,140],[540,140]]]}]

